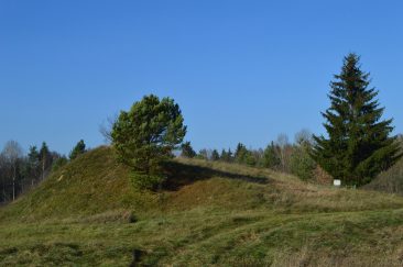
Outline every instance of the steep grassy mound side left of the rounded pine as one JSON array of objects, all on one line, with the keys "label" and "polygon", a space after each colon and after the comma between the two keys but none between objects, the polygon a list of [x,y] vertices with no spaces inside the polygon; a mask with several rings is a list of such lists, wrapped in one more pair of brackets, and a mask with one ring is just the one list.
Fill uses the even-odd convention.
[{"label": "steep grassy mound side left of the rounded pine", "polygon": [[54,173],[36,189],[0,213],[3,219],[34,221],[145,209],[153,196],[133,190],[129,171],[109,147],[90,151]]}]

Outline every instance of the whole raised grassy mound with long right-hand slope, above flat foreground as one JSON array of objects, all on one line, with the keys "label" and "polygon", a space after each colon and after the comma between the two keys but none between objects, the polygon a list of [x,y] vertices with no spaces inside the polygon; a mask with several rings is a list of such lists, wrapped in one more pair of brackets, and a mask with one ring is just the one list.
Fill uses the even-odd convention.
[{"label": "whole raised grassy mound with long right-hand slope, above flat foreground", "polygon": [[335,190],[246,166],[176,159],[160,192],[135,189],[128,168],[110,147],[99,147],[53,174],[35,190],[6,207],[2,220],[36,221],[157,214],[194,208],[353,211],[399,207],[401,200],[363,191]]}]

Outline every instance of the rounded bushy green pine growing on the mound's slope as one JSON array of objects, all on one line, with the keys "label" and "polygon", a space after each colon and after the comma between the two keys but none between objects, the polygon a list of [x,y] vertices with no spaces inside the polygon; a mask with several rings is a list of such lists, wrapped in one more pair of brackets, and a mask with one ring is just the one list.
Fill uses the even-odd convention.
[{"label": "rounded bushy green pine growing on the mound's slope", "polygon": [[[171,98],[145,96],[129,112],[121,111],[111,137],[118,159],[131,167],[134,177],[150,179],[162,173],[162,164],[182,143],[186,126],[179,107]],[[145,178],[144,178],[145,177]]]}]

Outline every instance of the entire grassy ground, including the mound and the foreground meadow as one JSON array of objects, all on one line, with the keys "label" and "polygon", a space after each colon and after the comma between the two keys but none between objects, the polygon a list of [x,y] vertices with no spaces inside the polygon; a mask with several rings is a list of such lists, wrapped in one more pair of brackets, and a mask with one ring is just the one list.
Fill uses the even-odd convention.
[{"label": "entire grassy ground, including the mound and the foreground meadow", "polygon": [[[139,191],[109,147],[0,209],[0,265],[401,266],[403,198],[176,159]],[[133,255],[134,254],[134,255]]]}]

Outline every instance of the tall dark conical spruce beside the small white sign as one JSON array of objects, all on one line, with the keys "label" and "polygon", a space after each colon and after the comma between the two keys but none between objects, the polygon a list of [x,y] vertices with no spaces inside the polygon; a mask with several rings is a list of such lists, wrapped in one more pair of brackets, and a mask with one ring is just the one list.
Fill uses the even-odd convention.
[{"label": "tall dark conical spruce beside the small white sign", "polygon": [[323,113],[328,138],[314,136],[313,158],[344,185],[368,183],[402,156],[396,138],[390,137],[392,120],[381,120],[384,108],[369,86],[360,57],[349,54],[330,82],[331,105]]}]

